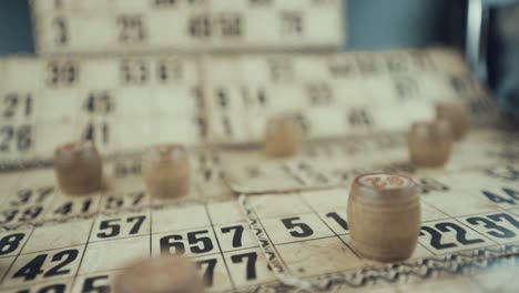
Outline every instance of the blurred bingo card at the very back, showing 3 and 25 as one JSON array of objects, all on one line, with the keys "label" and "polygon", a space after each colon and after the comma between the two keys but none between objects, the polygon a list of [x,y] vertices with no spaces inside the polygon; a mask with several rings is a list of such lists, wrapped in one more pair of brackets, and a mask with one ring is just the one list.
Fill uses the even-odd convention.
[{"label": "blurred bingo card at the very back, showing 3 and 25", "polygon": [[32,0],[40,53],[338,49],[342,0]]}]

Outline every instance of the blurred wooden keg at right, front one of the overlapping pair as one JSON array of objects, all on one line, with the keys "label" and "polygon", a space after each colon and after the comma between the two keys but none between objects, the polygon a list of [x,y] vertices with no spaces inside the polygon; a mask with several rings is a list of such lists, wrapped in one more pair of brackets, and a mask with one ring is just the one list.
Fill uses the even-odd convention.
[{"label": "blurred wooden keg at right, front one of the overlapping pair", "polygon": [[416,122],[407,138],[409,158],[417,166],[441,166],[450,158],[454,134],[446,120]]}]

